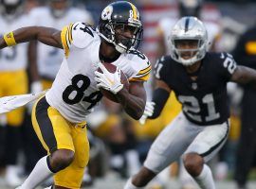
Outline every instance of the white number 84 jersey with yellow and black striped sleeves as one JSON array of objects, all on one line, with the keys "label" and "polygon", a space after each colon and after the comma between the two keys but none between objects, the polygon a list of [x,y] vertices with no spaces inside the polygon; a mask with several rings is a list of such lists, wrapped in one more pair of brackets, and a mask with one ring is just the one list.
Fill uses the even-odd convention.
[{"label": "white number 84 jersey with yellow and black striped sleeves", "polygon": [[[94,74],[101,61],[101,38],[97,31],[79,22],[64,27],[62,42],[65,59],[46,100],[68,121],[81,123],[102,96]],[[149,60],[138,51],[121,54],[112,64],[119,66],[130,81],[145,81],[151,71]]]}]

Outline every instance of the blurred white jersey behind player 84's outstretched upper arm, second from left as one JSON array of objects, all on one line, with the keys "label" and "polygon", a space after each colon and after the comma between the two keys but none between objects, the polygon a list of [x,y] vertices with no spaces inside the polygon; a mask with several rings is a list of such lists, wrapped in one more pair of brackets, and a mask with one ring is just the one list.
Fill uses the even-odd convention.
[{"label": "blurred white jersey behind player 84's outstretched upper arm, second from left", "polygon": [[[61,18],[54,17],[48,7],[32,9],[30,16],[33,18],[36,26],[48,26],[60,30],[64,26],[78,21],[92,23],[90,13],[77,8],[68,9]],[[37,48],[39,75],[41,77],[54,79],[63,61],[63,51],[43,43],[38,43]]]}]

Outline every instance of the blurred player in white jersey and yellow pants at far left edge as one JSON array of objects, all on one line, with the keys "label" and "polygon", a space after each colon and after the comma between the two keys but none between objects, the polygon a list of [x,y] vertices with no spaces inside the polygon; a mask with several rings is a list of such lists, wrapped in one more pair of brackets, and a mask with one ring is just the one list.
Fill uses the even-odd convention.
[{"label": "blurred player in white jersey and yellow pants at far left edge", "polygon": [[[22,0],[0,1],[0,36],[9,30],[22,26],[31,26],[24,13]],[[27,94],[27,43],[1,50],[0,52],[0,96]],[[17,176],[16,160],[19,150],[20,126],[24,120],[24,108],[1,115],[0,128],[6,129],[6,141],[1,150],[6,148],[6,181],[10,186],[21,183]],[[6,127],[3,127],[3,126]],[[5,133],[1,131],[1,133]],[[2,135],[1,134],[1,135]],[[3,139],[3,138],[2,138]],[[2,140],[1,139],[1,140]],[[1,160],[1,163],[4,161]]]}]

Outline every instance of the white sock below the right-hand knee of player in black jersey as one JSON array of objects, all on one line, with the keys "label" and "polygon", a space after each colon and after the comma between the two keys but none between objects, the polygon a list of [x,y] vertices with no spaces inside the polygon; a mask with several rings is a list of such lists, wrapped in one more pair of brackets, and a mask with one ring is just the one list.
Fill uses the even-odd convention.
[{"label": "white sock below the right-hand knee of player in black jersey", "polygon": [[210,167],[204,164],[200,175],[193,178],[202,189],[215,189],[214,180],[210,171]]}]

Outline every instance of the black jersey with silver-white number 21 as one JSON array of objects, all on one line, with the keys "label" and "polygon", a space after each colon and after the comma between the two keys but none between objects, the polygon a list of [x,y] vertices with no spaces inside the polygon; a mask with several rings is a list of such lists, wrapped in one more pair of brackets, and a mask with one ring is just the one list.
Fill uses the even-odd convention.
[{"label": "black jersey with silver-white number 21", "polygon": [[197,78],[192,80],[181,63],[165,56],[155,64],[155,77],[174,91],[190,121],[207,126],[221,124],[229,118],[227,82],[235,69],[236,63],[228,53],[208,52]]}]

